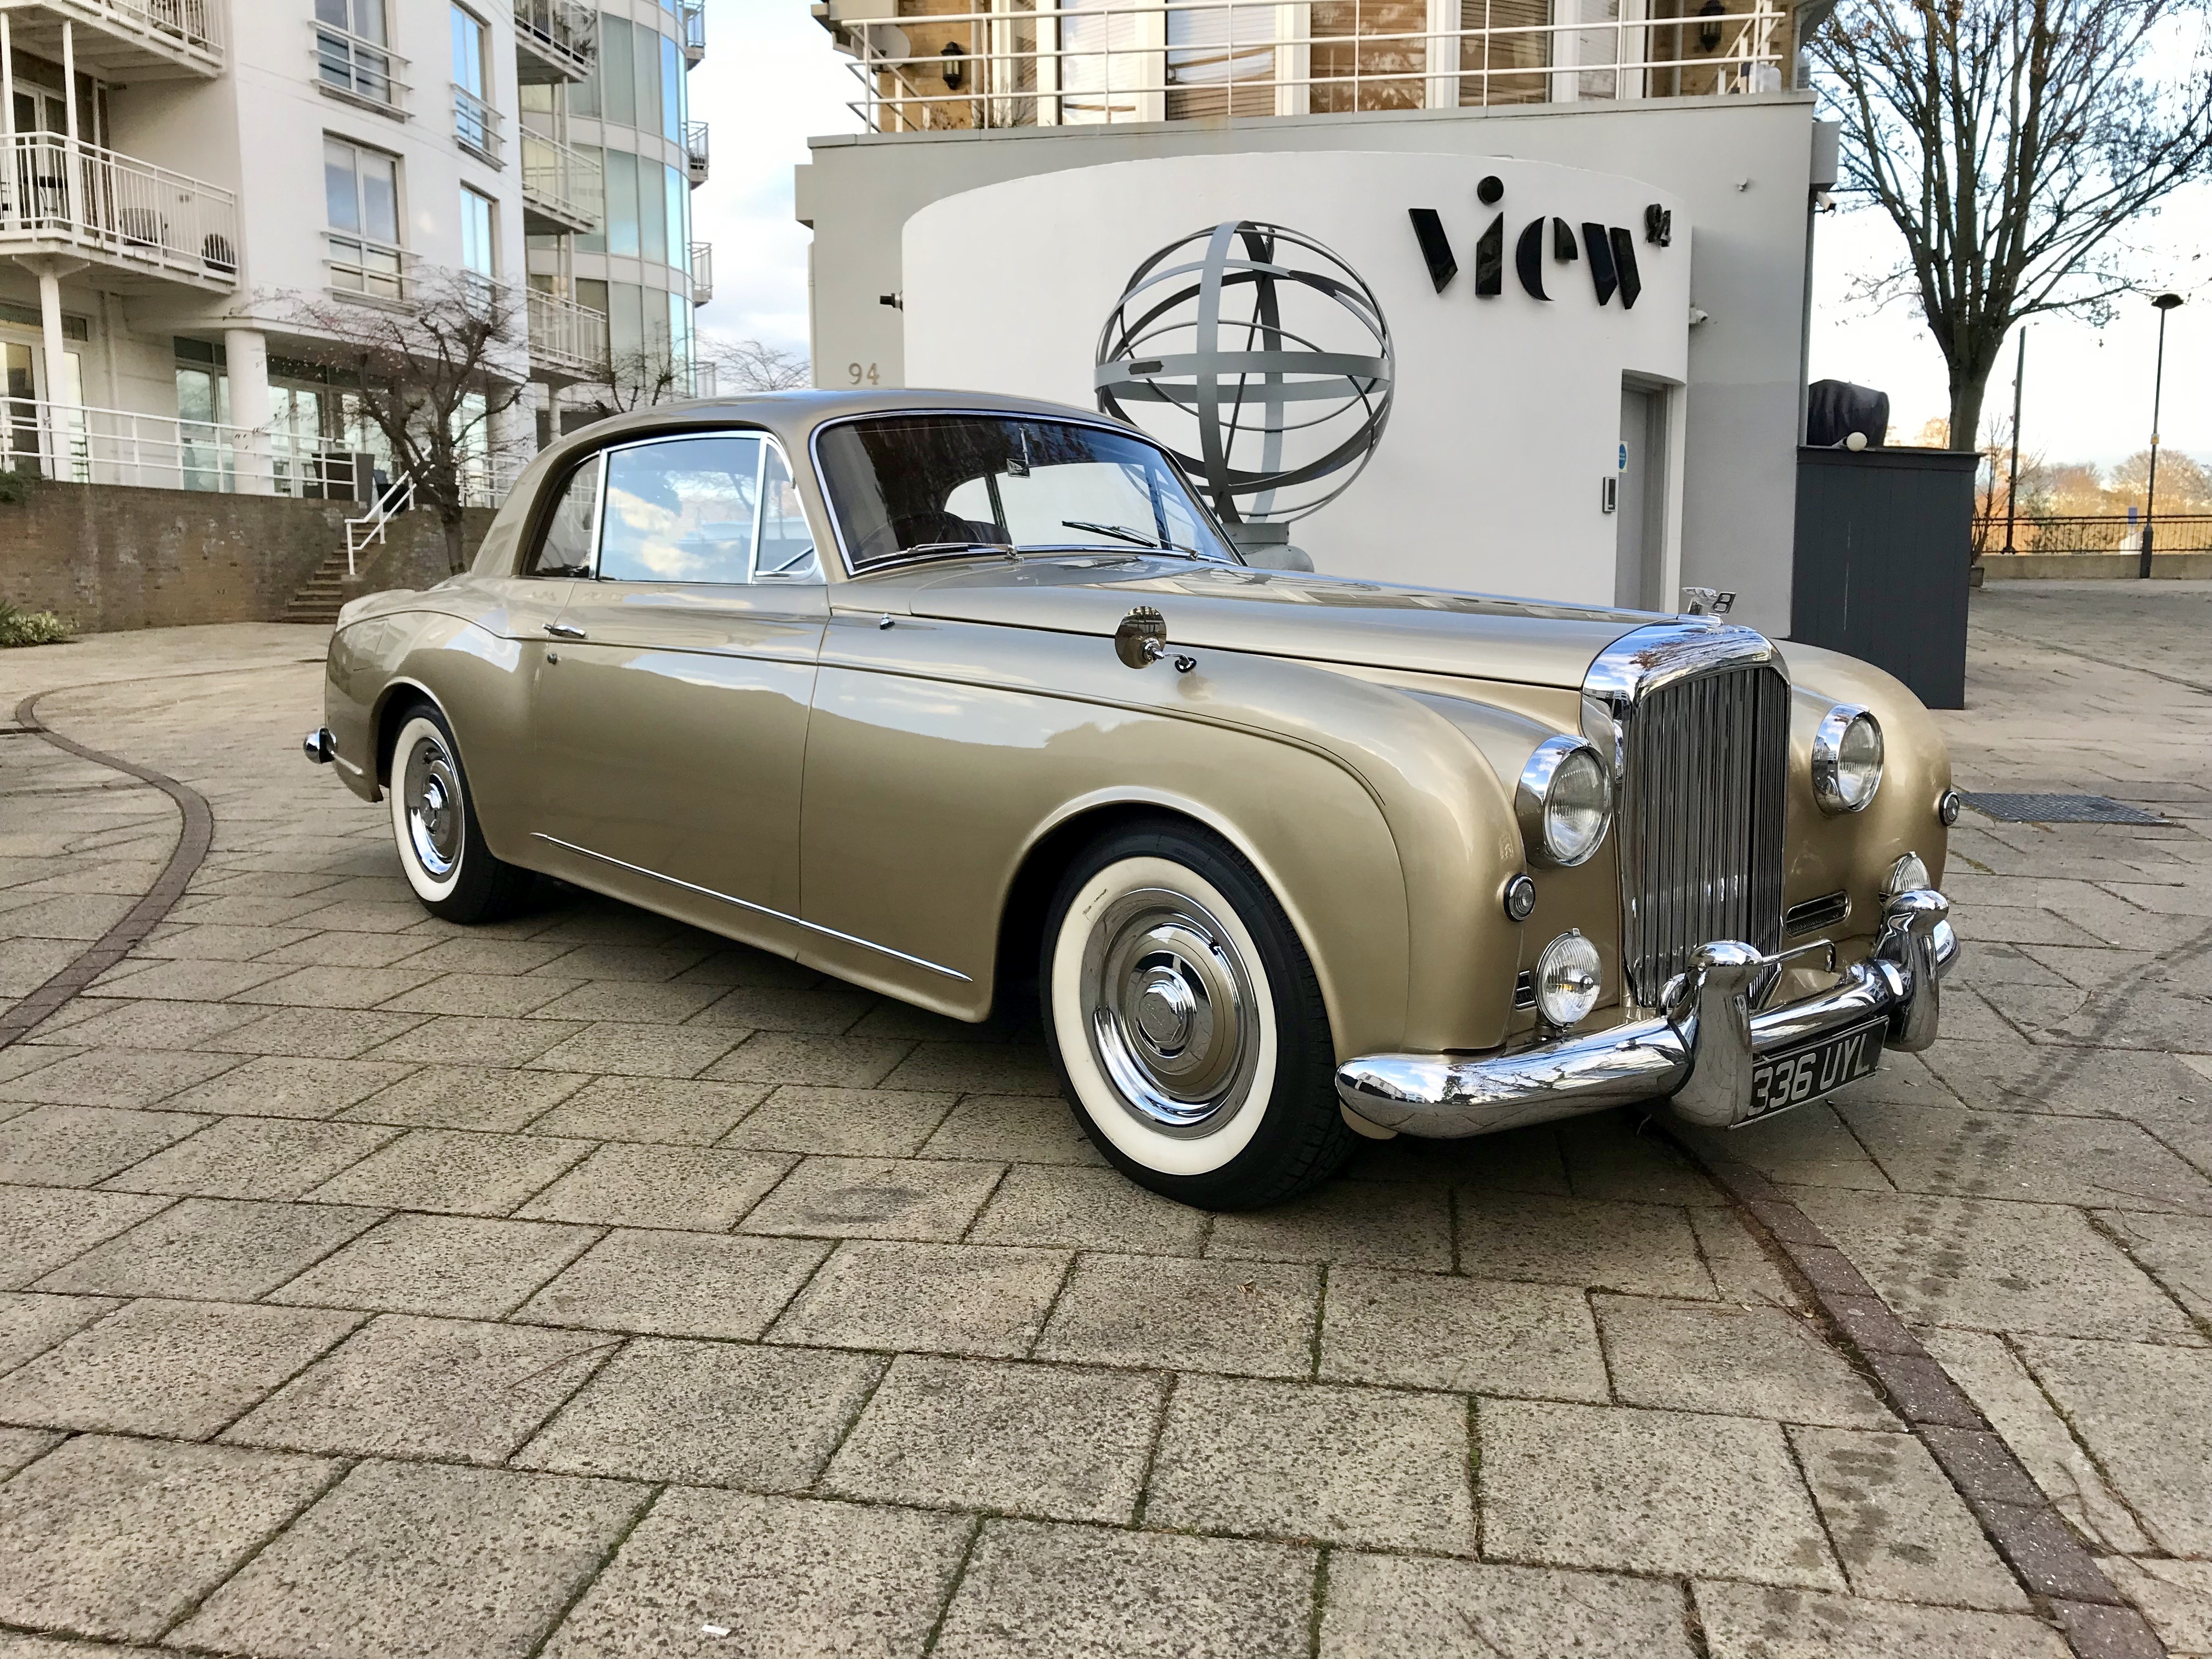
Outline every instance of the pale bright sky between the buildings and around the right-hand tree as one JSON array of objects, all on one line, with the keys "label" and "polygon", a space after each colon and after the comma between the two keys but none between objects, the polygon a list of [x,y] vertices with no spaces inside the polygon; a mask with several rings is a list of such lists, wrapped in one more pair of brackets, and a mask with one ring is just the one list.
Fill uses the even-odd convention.
[{"label": "pale bright sky between the buildings and around the right-hand tree", "polygon": [[[714,173],[692,197],[695,234],[714,243],[714,303],[699,323],[723,338],[805,352],[807,241],[792,219],[792,168],[807,137],[856,133],[856,82],[805,0],[708,0],[708,55],[692,71],[692,117],[712,124]],[[2166,327],[2163,442],[2212,460],[2212,188],[2177,197],[2141,226],[2137,270],[2190,303]],[[1909,440],[1947,411],[1944,365],[1911,305],[1849,303],[1851,279],[1898,248],[1878,212],[1820,219],[1814,254],[1812,378],[1889,394],[1891,436]],[[1712,327],[1725,327],[1714,319]],[[2121,301],[2106,327],[2039,319],[2028,332],[2024,449],[2110,465],[2150,440],[2157,312]],[[1991,376],[1989,420],[2013,403],[2013,345]],[[1984,427],[1986,431],[1989,427]]]}]

